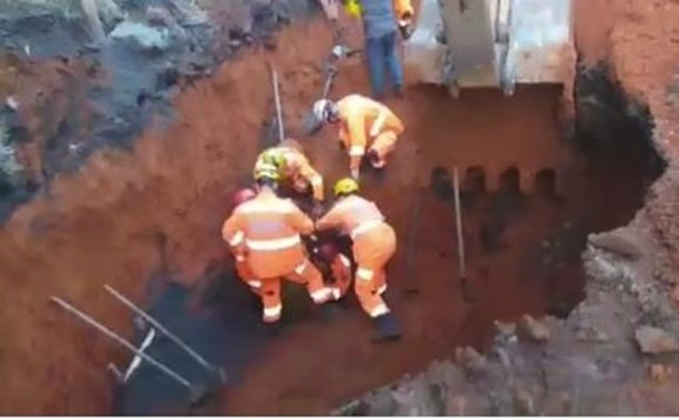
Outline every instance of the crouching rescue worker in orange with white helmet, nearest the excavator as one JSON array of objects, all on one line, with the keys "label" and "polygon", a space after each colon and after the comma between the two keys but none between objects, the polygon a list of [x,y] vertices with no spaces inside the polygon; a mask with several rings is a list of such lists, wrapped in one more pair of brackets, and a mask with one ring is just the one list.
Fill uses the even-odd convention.
[{"label": "crouching rescue worker in orange with white helmet, nearest the excavator", "polygon": [[315,118],[339,128],[339,142],[349,154],[351,176],[358,179],[364,155],[381,169],[394,150],[403,122],[386,105],[360,95],[349,95],[335,103],[321,99],[314,104]]}]

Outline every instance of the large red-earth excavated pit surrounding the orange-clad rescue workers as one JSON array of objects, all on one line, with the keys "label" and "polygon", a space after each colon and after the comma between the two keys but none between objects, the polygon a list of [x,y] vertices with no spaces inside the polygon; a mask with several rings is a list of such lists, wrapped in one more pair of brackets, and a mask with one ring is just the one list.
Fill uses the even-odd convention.
[{"label": "large red-earth excavated pit surrounding the orange-clad rescue workers", "polygon": [[[314,138],[298,130],[322,90],[315,60],[327,54],[330,34],[314,22],[285,31],[278,42],[279,51],[257,51],[189,88],[176,102],[177,122],[150,130],[132,157],[94,156],[80,176],[54,183],[57,198],[26,206],[8,225],[0,256],[22,298],[5,301],[8,319],[21,319],[7,355],[21,354],[29,364],[13,375],[14,394],[4,396],[13,407],[104,411],[112,403],[106,362],[130,361],[46,307],[48,278],[49,294],[95,308],[128,331],[129,315],[102,297],[101,284],[145,299],[161,321],[225,366],[228,386],[199,412],[327,413],[434,358],[453,357],[457,346],[485,348],[495,320],[567,315],[583,298],[580,253],[587,234],[628,223],[658,176],[644,130],[625,130],[627,147],[599,154],[596,136],[566,137],[558,86],[520,87],[513,97],[470,90],[457,100],[443,89],[409,88],[406,100],[389,104],[407,131],[384,173],[367,172],[362,183],[398,233],[386,298],[403,340],[371,342],[373,325],[353,295],[334,319],[323,321],[304,290],[293,287],[286,290],[281,335],[266,337],[261,308],[231,274],[219,231],[231,212],[231,193],[250,183],[262,144],[257,139],[271,131],[267,62],[281,71],[289,135],[303,142],[328,185],[347,172],[347,156],[331,130]],[[343,63],[332,96],[368,91],[363,64]],[[458,277],[455,167],[463,184],[473,301],[463,298]],[[411,236],[418,199],[421,217]],[[412,266],[409,248],[415,249]],[[417,293],[407,293],[412,289]],[[32,312],[22,318],[26,307]],[[31,334],[63,345],[44,357]],[[132,335],[140,341],[146,332]],[[165,340],[149,352],[192,381],[211,381]],[[42,388],[44,402],[35,408],[26,396],[39,382],[54,386]],[[148,365],[115,388],[115,412],[188,409],[185,390]]]}]

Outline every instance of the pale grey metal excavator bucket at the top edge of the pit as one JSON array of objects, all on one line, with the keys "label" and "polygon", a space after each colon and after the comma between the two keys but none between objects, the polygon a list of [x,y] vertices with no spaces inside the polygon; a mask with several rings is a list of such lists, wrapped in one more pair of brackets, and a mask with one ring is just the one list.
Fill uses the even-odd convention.
[{"label": "pale grey metal excavator bucket at the top edge of the pit", "polygon": [[571,0],[423,0],[409,80],[457,88],[559,83],[574,66]]}]

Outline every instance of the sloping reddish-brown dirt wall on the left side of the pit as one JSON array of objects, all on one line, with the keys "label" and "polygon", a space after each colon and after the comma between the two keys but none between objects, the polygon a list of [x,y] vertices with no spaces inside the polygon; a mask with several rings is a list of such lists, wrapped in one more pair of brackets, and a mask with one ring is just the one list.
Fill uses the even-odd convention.
[{"label": "sloping reddish-brown dirt wall on the left side of the pit", "polygon": [[[66,298],[129,332],[129,314],[102,287],[108,283],[143,300],[145,282],[159,269],[159,235],[166,239],[173,280],[197,281],[211,260],[224,256],[218,232],[231,193],[254,164],[272,106],[266,63],[275,62],[283,74],[300,65],[314,68],[330,44],[320,21],[286,31],[277,51],[254,51],[189,88],[176,101],[177,121],[149,130],[133,153],[97,153],[13,214],[0,231],[0,330],[11,337],[0,346],[6,378],[0,411],[108,410],[105,365],[127,356],[48,298]],[[290,97],[300,103],[310,104],[322,89],[314,71],[289,83],[286,95],[308,92]],[[287,121],[295,118],[286,115]]]}]

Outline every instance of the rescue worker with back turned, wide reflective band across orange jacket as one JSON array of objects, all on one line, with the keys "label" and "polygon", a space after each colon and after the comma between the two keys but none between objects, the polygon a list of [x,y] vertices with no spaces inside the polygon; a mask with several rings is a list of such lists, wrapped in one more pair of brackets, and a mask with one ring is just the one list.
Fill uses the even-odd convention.
[{"label": "rescue worker with back turned, wide reflective band across orange jacket", "polygon": [[264,323],[281,319],[281,278],[306,285],[317,305],[332,299],[300,238],[314,231],[314,222],[291,200],[276,196],[279,179],[275,168],[257,169],[256,197],[238,206],[222,227],[222,237],[231,248],[243,249],[253,276],[250,281],[258,281],[248,284],[259,286]]}]

